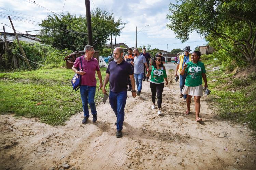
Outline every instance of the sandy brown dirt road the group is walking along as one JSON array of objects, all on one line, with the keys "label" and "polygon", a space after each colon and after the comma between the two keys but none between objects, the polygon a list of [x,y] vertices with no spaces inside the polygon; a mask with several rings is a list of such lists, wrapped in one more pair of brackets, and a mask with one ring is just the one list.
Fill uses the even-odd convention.
[{"label": "sandy brown dirt road the group is walking along", "polygon": [[128,92],[123,137],[108,101],[97,106],[98,121],[81,123],[78,113],[65,126],[52,127],[36,119],[0,115],[0,169],[256,169],[255,138],[246,126],[215,118],[202,97],[202,123],[195,121],[194,103],[184,115],[179,83],[168,75],[162,112],[151,110],[148,82],[140,97]]}]

